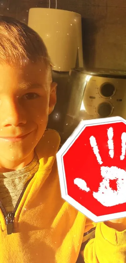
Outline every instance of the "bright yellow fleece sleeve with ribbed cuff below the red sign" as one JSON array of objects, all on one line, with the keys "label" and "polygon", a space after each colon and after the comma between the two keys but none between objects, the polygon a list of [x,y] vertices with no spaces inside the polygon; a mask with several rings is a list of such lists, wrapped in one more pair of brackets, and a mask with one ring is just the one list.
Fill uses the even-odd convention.
[{"label": "bright yellow fleece sleeve with ribbed cuff below the red sign", "polygon": [[95,238],[89,240],[81,255],[85,263],[125,263],[126,230],[119,232],[97,223]]}]

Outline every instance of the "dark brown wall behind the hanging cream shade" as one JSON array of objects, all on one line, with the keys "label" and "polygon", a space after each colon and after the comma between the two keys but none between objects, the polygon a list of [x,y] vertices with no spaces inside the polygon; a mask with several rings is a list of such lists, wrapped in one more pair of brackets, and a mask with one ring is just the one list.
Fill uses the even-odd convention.
[{"label": "dark brown wall behind the hanging cream shade", "polygon": [[[0,13],[27,23],[31,7],[48,7],[47,0],[3,0]],[[55,0],[51,0],[55,8]],[[82,15],[85,66],[126,70],[126,1],[57,0],[57,8]]]}]

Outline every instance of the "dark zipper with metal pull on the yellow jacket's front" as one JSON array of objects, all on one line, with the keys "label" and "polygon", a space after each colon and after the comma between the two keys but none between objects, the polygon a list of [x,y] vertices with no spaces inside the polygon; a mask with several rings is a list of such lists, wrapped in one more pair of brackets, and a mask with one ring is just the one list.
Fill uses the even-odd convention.
[{"label": "dark zipper with metal pull on the yellow jacket's front", "polygon": [[[32,177],[32,178],[33,178],[33,177]],[[16,204],[13,212],[7,213],[6,210],[5,210],[5,208],[3,207],[3,204],[2,204],[1,201],[0,201],[0,208],[1,208],[2,212],[3,212],[4,217],[5,217],[5,220],[6,220],[7,234],[8,234],[8,235],[12,234],[12,232],[13,232],[13,219],[14,219],[16,210],[17,210],[17,208],[18,208],[18,206],[19,206],[19,203],[21,202],[21,199],[22,199],[22,197],[23,197],[23,194],[24,194],[24,192],[25,192],[25,190],[26,190],[26,188],[27,188],[27,186],[28,186],[28,184],[29,184],[29,182],[31,181],[32,178],[30,178],[30,179],[28,180],[28,182],[25,184],[25,186],[24,186],[24,188],[23,188],[23,191],[21,192],[21,195],[20,195],[20,197],[19,197],[19,199],[18,199],[18,202],[17,202],[17,204]]]}]

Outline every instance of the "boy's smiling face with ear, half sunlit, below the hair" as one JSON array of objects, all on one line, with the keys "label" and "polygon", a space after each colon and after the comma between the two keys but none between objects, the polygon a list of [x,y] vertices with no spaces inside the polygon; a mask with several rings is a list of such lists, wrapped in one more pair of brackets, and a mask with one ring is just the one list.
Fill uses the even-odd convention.
[{"label": "boy's smiling face with ear, half sunlit, below the hair", "polygon": [[[40,62],[0,65],[0,166],[33,155],[56,103],[56,85]],[[5,138],[23,135],[17,141]]]}]

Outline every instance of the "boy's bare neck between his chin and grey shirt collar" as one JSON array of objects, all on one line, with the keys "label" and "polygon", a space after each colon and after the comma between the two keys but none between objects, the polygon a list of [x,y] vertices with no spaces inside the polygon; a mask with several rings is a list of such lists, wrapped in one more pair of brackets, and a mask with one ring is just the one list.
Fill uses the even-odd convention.
[{"label": "boy's bare neck between his chin and grey shirt collar", "polygon": [[34,151],[23,160],[5,160],[0,156],[0,173],[18,171],[27,166],[34,158]]}]

